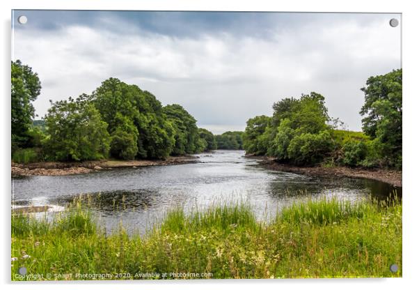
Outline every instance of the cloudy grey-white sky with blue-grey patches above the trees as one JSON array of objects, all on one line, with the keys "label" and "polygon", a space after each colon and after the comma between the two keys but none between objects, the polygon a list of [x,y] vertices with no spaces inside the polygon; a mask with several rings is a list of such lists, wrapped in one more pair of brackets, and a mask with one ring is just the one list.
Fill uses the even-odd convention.
[{"label": "cloudy grey-white sky with blue-grey patches above the trees", "polygon": [[[25,15],[26,24],[17,17]],[[401,68],[400,14],[14,10],[12,60],[49,100],[117,77],[182,105],[215,134],[272,115],[282,98],[321,93],[329,115],[361,130],[368,77]]]}]

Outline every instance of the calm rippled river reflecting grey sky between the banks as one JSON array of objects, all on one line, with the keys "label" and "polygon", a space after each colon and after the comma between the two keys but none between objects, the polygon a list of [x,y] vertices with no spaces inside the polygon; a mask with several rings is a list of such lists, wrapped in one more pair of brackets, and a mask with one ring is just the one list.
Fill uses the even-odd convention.
[{"label": "calm rippled river reflecting grey sky between the banks", "polygon": [[[12,178],[13,204],[61,208],[75,197],[90,197],[90,207],[111,231],[122,225],[143,232],[168,208],[202,209],[211,204],[246,201],[259,218],[306,197],[336,196],[356,201],[386,198],[395,188],[367,179],[314,178],[271,171],[244,151],[202,153],[198,163],[109,169],[68,176]],[[399,194],[401,194],[401,188]]]}]

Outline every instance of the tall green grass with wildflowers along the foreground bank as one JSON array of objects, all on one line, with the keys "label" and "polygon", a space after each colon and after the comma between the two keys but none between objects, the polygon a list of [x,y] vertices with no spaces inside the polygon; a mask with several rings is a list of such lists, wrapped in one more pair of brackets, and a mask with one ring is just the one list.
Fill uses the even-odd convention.
[{"label": "tall green grass with wildflowers along the foreground bank", "polygon": [[[78,204],[54,222],[14,215],[12,257],[12,280],[400,277],[402,204],[321,199],[270,222],[246,204],[177,208],[143,237],[106,235]],[[391,273],[391,264],[400,270]],[[15,275],[22,266],[42,277]]]}]

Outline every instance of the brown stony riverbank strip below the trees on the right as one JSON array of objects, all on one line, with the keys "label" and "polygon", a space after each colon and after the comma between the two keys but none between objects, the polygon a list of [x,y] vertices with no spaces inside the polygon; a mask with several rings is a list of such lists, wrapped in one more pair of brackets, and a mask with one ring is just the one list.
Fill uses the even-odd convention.
[{"label": "brown stony riverbank strip below the trees on the right", "polygon": [[388,169],[362,169],[349,167],[299,167],[276,162],[273,158],[266,156],[248,156],[259,160],[260,164],[267,169],[276,171],[292,172],[297,174],[306,174],[308,176],[332,176],[332,177],[351,177],[368,178],[376,181],[382,181],[393,186],[402,186],[402,171]]}]

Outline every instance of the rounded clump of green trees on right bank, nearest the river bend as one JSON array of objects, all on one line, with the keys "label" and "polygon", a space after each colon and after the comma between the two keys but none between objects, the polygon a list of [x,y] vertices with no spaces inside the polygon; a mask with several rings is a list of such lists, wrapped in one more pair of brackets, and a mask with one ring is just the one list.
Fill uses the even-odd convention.
[{"label": "rounded clump of green trees on right bank, nearest the river bend", "polygon": [[333,149],[324,97],[318,93],[284,98],[273,106],[274,115],[249,119],[244,149],[254,155],[272,155],[283,162],[310,165],[321,162]]}]

